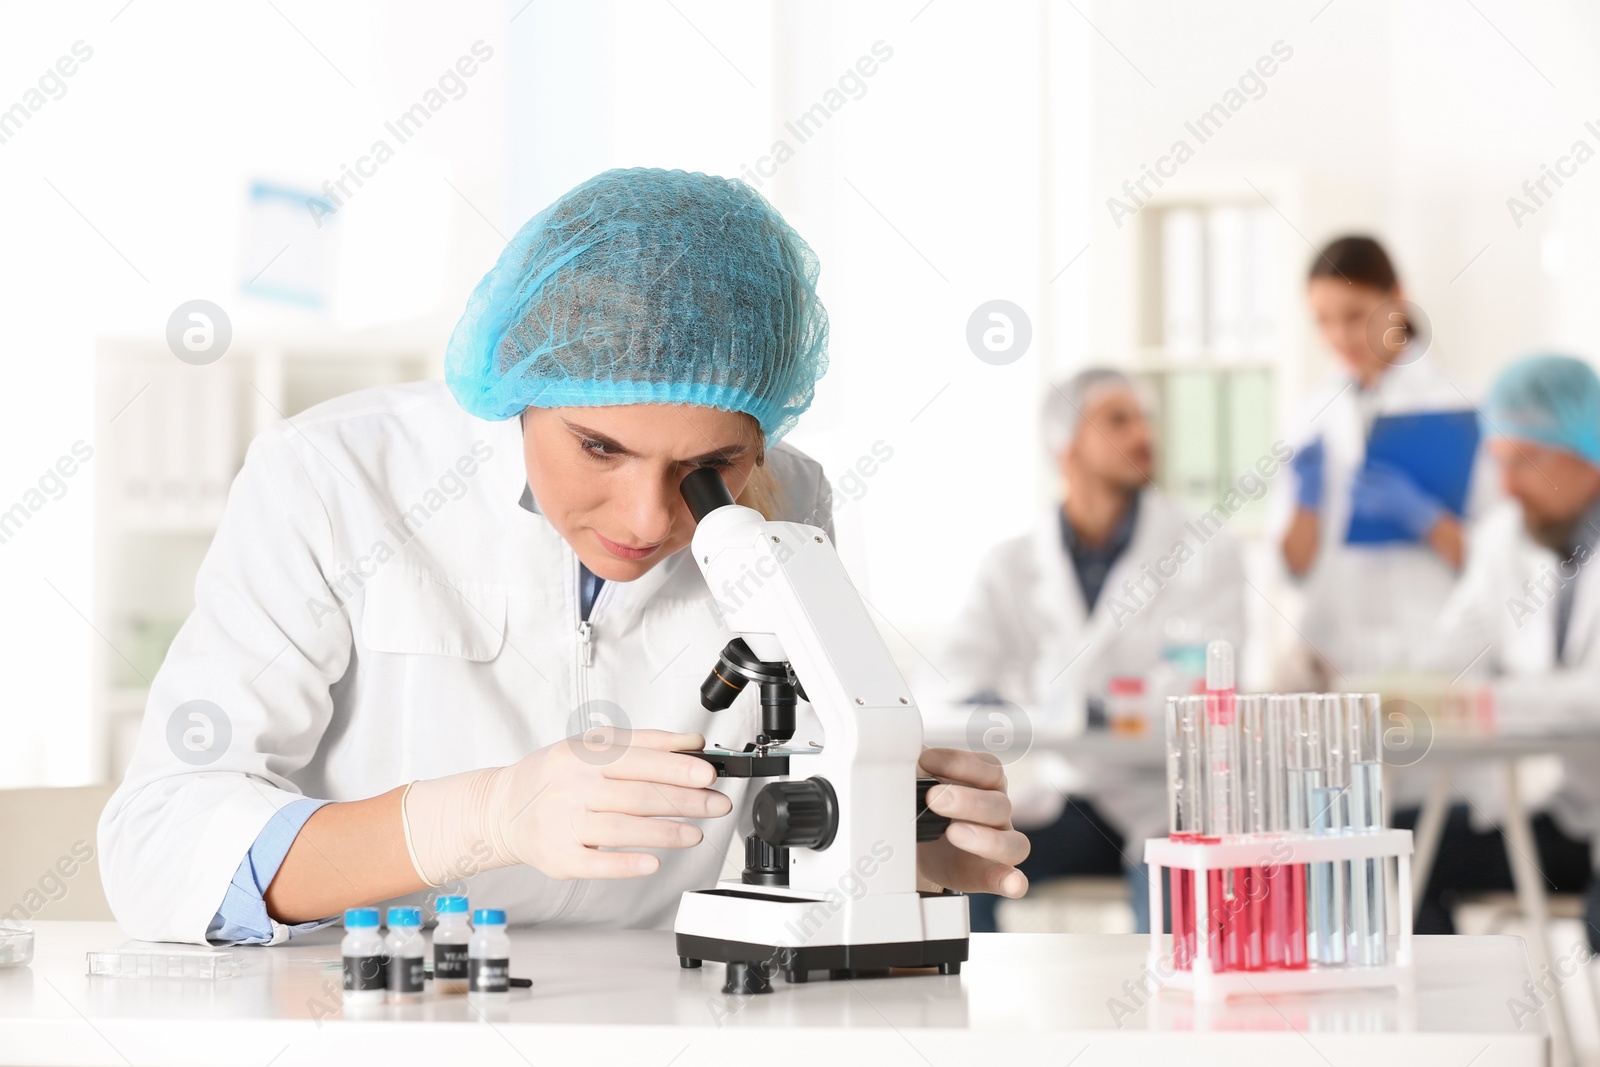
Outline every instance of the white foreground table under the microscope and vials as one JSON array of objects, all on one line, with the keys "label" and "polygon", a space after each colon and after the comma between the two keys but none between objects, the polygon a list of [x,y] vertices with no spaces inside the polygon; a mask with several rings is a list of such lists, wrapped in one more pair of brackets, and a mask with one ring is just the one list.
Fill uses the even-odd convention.
[{"label": "white foreground table under the microscope and vials", "polygon": [[[774,982],[725,997],[723,968],[680,969],[667,931],[514,929],[512,974],[464,997],[341,1009],[339,931],[243,949],[240,977],[88,977],[114,923],[35,923],[27,968],[0,969],[3,1064],[1501,1064],[1547,1062],[1544,1016],[1522,1019],[1515,937],[1418,937],[1416,992],[1250,998],[1202,1008],[1130,997],[1141,936],[978,934],[958,976]],[[171,945],[168,945],[171,947]],[[1142,1000],[1142,998],[1141,998]],[[1122,1006],[1114,1011],[1112,1005]]]}]

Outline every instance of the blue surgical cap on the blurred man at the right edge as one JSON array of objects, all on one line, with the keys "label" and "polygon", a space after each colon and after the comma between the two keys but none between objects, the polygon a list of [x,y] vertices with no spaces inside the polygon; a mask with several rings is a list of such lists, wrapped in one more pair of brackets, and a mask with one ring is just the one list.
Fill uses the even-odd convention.
[{"label": "blue surgical cap on the blurred man at the right edge", "polygon": [[1483,418],[1488,434],[1562,448],[1600,467],[1600,378],[1570,355],[1530,355],[1501,371]]}]

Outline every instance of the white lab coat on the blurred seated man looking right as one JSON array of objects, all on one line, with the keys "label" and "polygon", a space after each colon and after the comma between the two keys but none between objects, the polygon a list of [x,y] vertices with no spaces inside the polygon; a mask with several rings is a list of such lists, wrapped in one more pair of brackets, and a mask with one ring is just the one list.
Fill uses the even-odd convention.
[{"label": "white lab coat on the blurred seated man looking right", "polygon": [[[1245,568],[1226,528],[1202,530],[1194,515],[1160,491],[1144,490],[1133,541],[1110,568],[1090,613],[1061,541],[1059,515],[1059,506],[1051,507],[1032,533],[984,557],[941,664],[952,697],[989,689],[1042,715],[1082,721],[1085,694],[1104,694],[1112,677],[1142,677],[1160,664],[1166,624],[1174,616],[1192,622],[1206,640],[1227,638],[1243,646]],[[1157,577],[1171,574],[1179,544],[1192,558],[1157,587],[1144,577],[1146,568]],[[1125,585],[1141,579],[1149,597]],[[1019,808],[1037,813],[1032,824],[1058,816],[1066,790],[1091,797],[1130,843],[1166,832],[1162,771],[1062,765],[1048,757],[1038,763],[1046,766],[1032,768],[1030,776],[1042,779],[1034,790],[1054,793],[1054,814],[1038,813],[1038,797],[1018,795]],[[1138,857],[1136,849],[1128,854]]]}]

